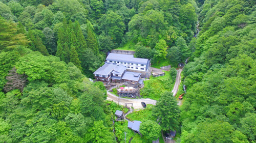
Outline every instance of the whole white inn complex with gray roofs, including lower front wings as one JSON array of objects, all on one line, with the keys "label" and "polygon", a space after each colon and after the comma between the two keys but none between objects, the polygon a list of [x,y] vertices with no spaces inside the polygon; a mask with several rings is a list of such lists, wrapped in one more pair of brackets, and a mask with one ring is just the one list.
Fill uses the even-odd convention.
[{"label": "whole white inn complex with gray roofs, including lower front wings", "polygon": [[150,60],[134,58],[129,54],[109,53],[105,64],[97,69],[93,74],[97,81],[110,83],[111,79],[114,82],[122,80],[138,83],[141,73],[128,72],[127,69],[137,71],[147,71],[150,66]]}]

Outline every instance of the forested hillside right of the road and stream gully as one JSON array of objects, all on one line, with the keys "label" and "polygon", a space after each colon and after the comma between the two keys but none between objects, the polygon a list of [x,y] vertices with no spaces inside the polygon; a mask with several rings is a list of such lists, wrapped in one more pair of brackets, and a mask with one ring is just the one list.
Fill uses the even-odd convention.
[{"label": "forested hillside right of the road and stream gully", "polygon": [[255,142],[255,1],[206,0],[184,67],[181,142]]}]

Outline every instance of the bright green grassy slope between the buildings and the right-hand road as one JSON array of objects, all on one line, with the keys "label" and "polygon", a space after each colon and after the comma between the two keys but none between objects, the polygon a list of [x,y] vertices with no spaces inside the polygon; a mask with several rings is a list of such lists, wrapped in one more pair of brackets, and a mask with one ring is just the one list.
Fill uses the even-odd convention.
[{"label": "bright green grassy slope between the buildings and the right-hand road", "polygon": [[144,88],[140,91],[142,98],[159,100],[163,92],[173,90],[176,77],[168,71],[164,72],[164,76],[151,77],[150,80],[144,81]]}]

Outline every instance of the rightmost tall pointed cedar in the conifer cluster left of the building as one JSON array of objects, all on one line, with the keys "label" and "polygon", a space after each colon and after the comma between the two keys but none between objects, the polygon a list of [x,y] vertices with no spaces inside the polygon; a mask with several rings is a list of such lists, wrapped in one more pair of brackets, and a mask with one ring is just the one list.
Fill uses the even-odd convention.
[{"label": "rightmost tall pointed cedar in the conifer cluster left of the building", "polygon": [[87,45],[88,45],[88,48],[91,48],[94,51],[94,53],[98,55],[99,46],[93,30],[94,28],[92,23],[89,20],[87,20]]}]

